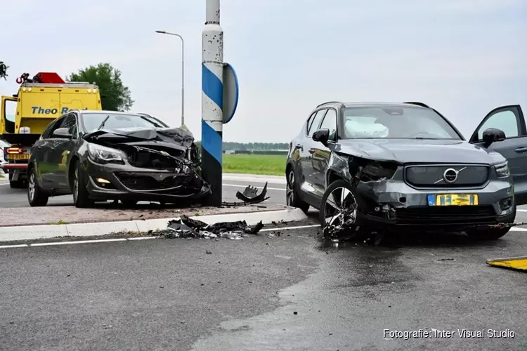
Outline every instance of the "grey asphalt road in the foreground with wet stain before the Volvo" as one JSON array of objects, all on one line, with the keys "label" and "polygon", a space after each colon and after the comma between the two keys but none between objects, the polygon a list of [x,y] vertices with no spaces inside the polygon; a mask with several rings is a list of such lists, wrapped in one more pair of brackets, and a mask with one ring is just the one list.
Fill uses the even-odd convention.
[{"label": "grey asphalt road in the foreground with wet stain before the Volvo", "polygon": [[0,350],[527,350],[526,275],[486,265],[526,255],[524,232],[334,247],[317,231],[0,249]]}]

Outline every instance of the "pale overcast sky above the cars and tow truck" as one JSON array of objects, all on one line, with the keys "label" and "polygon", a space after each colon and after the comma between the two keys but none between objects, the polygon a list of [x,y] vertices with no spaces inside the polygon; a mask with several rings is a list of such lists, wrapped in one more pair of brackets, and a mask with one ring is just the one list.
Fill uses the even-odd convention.
[{"label": "pale overcast sky above the cars and tow truck", "polygon": [[[11,95],[22,72],[62,76],[98,62],[136,101],[177,125],[186,39],[186,121],[201,138],[206,0],[4,1],[0,60]],[[326,100],[422,101],[466,138],[487,112],[527,110],[527,0],[221,0],[225,61],[240,102],[223,140],[289,142]]]}]

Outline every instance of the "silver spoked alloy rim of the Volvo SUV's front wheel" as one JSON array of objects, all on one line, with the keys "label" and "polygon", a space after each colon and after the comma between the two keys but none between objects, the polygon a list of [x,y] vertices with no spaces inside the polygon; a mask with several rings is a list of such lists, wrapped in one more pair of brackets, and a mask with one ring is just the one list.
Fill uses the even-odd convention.
[{"label": "silver spoked alloy rim of the Volvo SUV's front wheel", "polygon": [[351,225],[357,218],[357,200],[346,187],[335,188],[324,204],[326,225]]}]

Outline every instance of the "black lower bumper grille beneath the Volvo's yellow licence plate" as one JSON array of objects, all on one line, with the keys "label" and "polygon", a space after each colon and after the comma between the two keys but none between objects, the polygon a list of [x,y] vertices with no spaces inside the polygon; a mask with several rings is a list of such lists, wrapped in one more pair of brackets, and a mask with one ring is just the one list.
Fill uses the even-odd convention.
[{"label": "black lower bumper grille beneath the Volvo's yellow licence plate", "polygon": [[396,209],[397,223],[452,225],[495,223],[493,206],[429,206]]}]

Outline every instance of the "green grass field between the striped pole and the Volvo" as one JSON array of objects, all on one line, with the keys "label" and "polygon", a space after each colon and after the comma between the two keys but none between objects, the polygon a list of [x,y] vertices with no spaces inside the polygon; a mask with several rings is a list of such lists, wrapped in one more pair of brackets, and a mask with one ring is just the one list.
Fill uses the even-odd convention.
[{"label": "green grass field between the striped pole and the Volvo", "polygon": [[223,172],[284,176],[285,159],[275,154],[223,154]]}]

